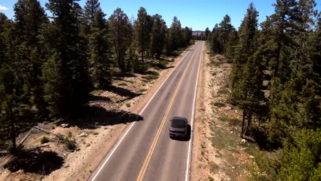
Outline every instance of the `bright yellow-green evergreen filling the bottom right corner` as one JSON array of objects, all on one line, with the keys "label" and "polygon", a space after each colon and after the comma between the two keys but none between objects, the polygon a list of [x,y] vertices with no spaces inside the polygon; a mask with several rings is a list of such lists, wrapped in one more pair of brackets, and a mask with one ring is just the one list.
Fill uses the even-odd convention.
[{"label": "bright yellow-green evergreen filling the bottom right corner", "polygon": [[280,180],[320,180],[321,131],[300,130],[283,149]]}]

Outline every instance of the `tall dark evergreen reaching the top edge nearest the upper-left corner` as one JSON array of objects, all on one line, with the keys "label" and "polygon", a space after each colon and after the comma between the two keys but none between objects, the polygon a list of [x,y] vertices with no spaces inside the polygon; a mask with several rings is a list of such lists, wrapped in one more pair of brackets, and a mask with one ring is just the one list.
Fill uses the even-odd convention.
[{"label": "tall dark evergreen reaching the top edge nearest the upper-left corner", "polygon": [[38,0],[19,0],[14,4],[14,17],[15,42],[24,49],[14,69],[19,69],[21,84],[25,85],[29,97],[34,100],[40,113],[44,114],[47,111],[43,99],[43,82],[40,79],[44,55],[40,51],[37,36],[41,25],[49,20]]}]

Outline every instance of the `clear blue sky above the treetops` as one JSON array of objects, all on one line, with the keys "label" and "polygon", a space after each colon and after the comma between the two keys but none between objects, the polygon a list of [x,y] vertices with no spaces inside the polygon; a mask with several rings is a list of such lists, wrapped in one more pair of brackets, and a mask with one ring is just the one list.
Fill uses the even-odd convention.
[{"label": "clear blue sky above the treetops", "polygon": [[[316,0],[319,12],[321,10],[320,1]],[[40,0],[43,7],[45,7],[46,2],[47,0]],[[86,0],[79,1],[82,7],[85,2]],[[251,0],[100,0],[107,17],[116,8],[121,8],[129,18],[136,17],[137,10],[143,6],[148,14],[158,13],[162,15],[167,26],[170,26],[173,17],[177,16],[182,27],[192,27],[193,30],[204,30],[206,27],[212,30],[215,23],[221,22],[225,14],[231,17],[232,25],[238,28],[250,2]],[[273,14],[274,7],[272,4],[276,0],[252,0],[252,2],[259,11],[260,23],[265,21],[266,16]],[[0,0],[0,11],[4,12],[10,19],[14,16],[14,3],[16,3],[16,0]]]}]

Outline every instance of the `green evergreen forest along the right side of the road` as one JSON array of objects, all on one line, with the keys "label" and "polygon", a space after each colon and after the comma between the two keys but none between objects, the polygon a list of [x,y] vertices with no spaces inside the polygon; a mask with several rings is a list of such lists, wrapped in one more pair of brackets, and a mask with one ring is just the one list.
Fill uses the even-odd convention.
[{"label": "green evergreen forest along the right side of the road", "polygon": [[249,180],[321,179],[321,22],[313,0],[277,0],[258,23],[250,3],[239,29],[226,14],[204,38],[232,64],[229,101],[240,136],[264,151]]}]

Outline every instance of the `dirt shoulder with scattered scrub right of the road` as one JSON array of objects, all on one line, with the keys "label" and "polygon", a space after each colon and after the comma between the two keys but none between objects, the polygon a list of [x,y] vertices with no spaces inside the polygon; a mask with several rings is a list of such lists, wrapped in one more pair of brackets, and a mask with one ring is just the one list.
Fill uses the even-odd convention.
[{"label": "dirt shoulder with scattered scrub right of the road", "polygon": [[239,138],[241,114],[227,103],[230,64],[205,50],[195,108],[191,180],[246,180],[252,158],[246,152],[250,145]]}]

